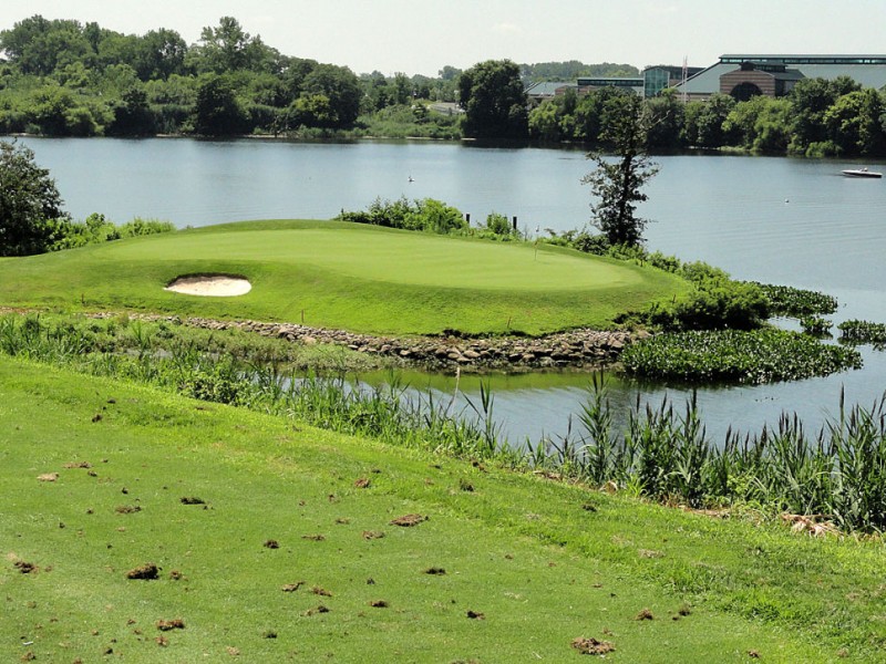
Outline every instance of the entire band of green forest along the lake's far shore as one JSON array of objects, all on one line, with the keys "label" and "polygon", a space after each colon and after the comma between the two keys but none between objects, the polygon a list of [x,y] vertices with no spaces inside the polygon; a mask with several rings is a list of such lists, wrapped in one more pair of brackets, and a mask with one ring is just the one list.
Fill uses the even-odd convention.
[{"label": "entire band of green forest along the lake's far shore", "polygon": [[[122,34],[34,15],[0,31],[0,134],[477,137],[605,145],[624,112],[614,87],[529,101],[525,86],[638,76],[628,64],[487,61],[436,77],[285,55],[224,17],[188,44],[174,30]],[[804,80],[779,98],[643,102],[648,147],[806,156],[886,155],[886,98],[848,77]]]}]

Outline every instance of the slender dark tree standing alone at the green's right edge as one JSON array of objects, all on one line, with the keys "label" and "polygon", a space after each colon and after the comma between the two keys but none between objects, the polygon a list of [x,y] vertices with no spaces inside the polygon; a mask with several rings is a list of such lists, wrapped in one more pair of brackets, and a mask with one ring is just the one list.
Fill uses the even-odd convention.
[{"label": "slender dark tree standing alone at the green's right edge", "polygon": [[[658,173],[646,152],[650,116],[643,101],[636,95],[618,97],[621,112],[610,113],[601,138],[616,151],[616,160],[598,153],[588,158],[597,168],[581,178],[599,198],[591,205],[591,222],[600,229],[610,245],[630,247],[642,242],[647,220],[636,216],[637,204],[647,199],[640,188]],[[610,103],[615,100],[610,100]]]}]

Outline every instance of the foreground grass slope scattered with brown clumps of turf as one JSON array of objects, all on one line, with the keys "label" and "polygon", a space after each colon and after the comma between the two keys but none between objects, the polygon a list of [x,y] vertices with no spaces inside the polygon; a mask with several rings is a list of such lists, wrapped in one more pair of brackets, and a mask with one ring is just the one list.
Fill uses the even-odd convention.
[{"label": "foreground grass slope scattered with brown clumps of turf", "polygon": [[873,662],[886,639],[880,544],[10,360],[0,423],[11,661],[564,662],[585,636],[616,662]]}]

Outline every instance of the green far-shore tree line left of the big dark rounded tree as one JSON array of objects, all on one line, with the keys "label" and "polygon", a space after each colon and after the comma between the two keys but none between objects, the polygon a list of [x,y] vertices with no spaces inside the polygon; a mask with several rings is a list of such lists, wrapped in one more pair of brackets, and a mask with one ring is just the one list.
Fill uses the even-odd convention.
[{"label": "green far-shore tree line left of the big dark rounded tree", "polygon": [[122,34],[34,15],[0,31],[0,133],[51,136],[341,129],[415,100],[454,102],[461,74],[358,76],[285,55],[230,17],[187,44],[168,29]]}]

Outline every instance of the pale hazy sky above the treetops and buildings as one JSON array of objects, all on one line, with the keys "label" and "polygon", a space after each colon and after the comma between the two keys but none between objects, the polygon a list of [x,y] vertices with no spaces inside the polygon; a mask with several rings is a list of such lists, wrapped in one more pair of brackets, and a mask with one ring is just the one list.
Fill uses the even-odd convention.
[{"label": "pale hazy sky above the treetops and buildings", "polygon": [[886,52],[886,0],[2,0],[0,29],[37,13],[125,33],[169,28],[188,43],[231,15],[287,55],[388,75],[502,58],[643,68]]}]

